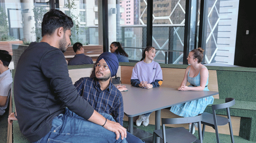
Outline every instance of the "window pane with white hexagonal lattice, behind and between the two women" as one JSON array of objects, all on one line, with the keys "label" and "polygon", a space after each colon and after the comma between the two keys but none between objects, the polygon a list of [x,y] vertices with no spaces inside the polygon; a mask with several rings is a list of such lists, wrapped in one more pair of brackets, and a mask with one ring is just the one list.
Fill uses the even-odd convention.
[{"label": "window pane with white hexagonal lattice, behind and between the two women", "polygon": [[185,0],[153,1],[152,46],[158,63],[182,64]]}]

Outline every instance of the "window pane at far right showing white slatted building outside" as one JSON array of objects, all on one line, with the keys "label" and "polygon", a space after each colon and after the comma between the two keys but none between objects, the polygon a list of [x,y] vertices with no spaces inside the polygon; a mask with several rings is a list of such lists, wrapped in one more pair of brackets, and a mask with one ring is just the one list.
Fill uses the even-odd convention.
[{"label": "window pane at far right showing white slatted building outside", "polygon": [[204,63],[234,65],[239,0],[209,0]]}]

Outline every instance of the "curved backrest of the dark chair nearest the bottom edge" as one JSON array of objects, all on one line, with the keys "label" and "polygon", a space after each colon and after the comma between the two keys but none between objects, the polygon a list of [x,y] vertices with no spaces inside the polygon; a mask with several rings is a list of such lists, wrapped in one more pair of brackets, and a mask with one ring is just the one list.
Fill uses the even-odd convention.
[{"label": "curved backrest of the dark chair nearest the bottom edge", "polygon": [[185,124],[185,123],[195,123],[203,120],[202,114],[194,117],[182,117],[182,118],[162,118],[163,124]]}]

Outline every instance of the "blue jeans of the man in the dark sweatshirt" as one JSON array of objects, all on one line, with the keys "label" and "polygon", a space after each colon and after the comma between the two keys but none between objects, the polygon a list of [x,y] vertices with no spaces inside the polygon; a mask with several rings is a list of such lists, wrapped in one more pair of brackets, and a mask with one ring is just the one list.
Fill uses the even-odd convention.
[{"label": "blue jeans of the man in the dark sweatshirt", "polygon": [[[111,115],[100,113],[114,121]],[[92,123],[66,108],[65,114],[60,114],[52,120],[52,128],[48,134],[36,143],[127,143],[116,140],[116,134],[104,127]]]}]

